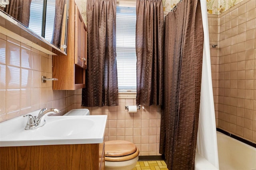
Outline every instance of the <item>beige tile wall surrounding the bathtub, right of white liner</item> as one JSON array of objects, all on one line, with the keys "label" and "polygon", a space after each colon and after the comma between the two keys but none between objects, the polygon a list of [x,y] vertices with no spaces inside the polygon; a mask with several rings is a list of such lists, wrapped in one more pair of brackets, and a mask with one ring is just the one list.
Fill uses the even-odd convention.
[{"label": "beige tile wall surrounding the bathtub, right of white liner", "polygon": [[[256,143],[256,2],[208,15],[217,127]],[[217,27],[216,27],[217,26]],[[214,29],[213,29],[214,28]],[[215,34],[218,34],[216,39]]]}]

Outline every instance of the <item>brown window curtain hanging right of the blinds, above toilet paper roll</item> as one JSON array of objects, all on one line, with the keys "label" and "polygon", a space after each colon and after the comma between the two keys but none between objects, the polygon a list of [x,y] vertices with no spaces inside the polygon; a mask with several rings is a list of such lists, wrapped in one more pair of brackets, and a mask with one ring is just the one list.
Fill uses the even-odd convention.
[{"label": "brown window curtain hanging right of the blinds, above toilet paper roll", "polygon": [[161,0],[136,2],[137,105],[161,105],[164,14]]}]

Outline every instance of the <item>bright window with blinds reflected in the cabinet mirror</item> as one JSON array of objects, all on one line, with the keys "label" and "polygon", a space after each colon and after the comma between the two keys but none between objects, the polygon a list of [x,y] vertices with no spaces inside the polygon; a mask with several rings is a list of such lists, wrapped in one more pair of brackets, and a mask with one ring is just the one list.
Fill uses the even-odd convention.
[{"label": "bright window with blinds reflected in the cabinet mirror", "polygon": [[[47,41],[52,42],[54,16],[55,0],[32,0],[30,4],[30,19],[28,28],[30,28],[36,34],[44,37]],[[46,18],[45,24],[43,18]]]}]

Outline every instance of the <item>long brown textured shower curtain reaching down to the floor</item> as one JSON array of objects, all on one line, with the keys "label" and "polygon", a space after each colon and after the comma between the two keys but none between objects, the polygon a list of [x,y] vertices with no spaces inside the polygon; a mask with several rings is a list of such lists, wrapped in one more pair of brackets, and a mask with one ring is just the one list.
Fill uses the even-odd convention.
[{"label": "long brown textured shower curtain reaching down to the floor", "polygon": [[203,41],[200,2],[183,0],[165,18],[160,153],[169,170],[194,170]]}]

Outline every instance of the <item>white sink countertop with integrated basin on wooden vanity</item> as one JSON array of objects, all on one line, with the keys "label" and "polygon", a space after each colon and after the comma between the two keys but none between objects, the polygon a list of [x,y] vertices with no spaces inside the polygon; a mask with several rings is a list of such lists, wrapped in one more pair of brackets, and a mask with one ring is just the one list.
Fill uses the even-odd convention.
[{"label": "white sink countertop with integrated basin on wooden vanity", "polygon": [[46,124],[34,130],[24,129],[27,120],[20,116],[0,123],[0,146],[102,143],[107,115],[47,116]]}]

